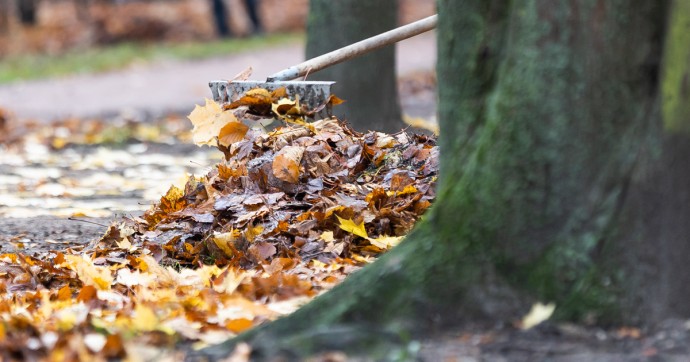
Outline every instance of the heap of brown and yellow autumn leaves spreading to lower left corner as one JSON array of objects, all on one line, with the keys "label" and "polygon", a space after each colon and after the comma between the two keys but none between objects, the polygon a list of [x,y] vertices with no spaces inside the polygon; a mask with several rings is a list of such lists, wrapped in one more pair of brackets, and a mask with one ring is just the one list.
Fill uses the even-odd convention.
[{"label": "heap of brown and yellow autumn leaves spreading to lower left corner", "polygon": [[[337,103],[337,99],[329,100]],[[223,162],[83,249],[0,255],[0,358],[159,356],[289,313],[396,245],[434,198],[438,148],[361,134],[281,91],[190,115]],[[266,120],[283,124],[266,131]]]}]

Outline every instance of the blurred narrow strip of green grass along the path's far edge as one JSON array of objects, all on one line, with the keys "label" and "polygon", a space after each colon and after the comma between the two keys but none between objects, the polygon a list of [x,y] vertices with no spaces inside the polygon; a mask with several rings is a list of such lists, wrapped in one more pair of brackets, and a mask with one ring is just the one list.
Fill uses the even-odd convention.
[{"label": "blurred narrow strip of green grass along the path's far edge", "polygon": [[0,84],[19,80],[104,72],[160,60],[204,59],[274,45],[297,43],[302,34],[275,34],[243,39],[189,43],[122,43],[70,51],[62,55],[0,58]]}]

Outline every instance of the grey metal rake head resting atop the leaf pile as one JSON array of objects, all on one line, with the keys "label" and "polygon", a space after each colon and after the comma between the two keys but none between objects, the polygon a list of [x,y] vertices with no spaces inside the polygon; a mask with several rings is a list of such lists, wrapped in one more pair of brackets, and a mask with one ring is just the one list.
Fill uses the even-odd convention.
[{"label": "grey metal rake head resting atop the leaf pile", "polygon": [[[331,86],[335,82],[323,81],[277,81],[277,82],[259,82],[259,81],[227,81],[215,80],[208,85],[211,87],[213,100],[217,103],[226,103],[239,98],[240,95],[254,88],[264,88],[268,91],[274,91],[280,87],[285,87],[287,95],[290,99],[299,97],[301,104],[306,104],[309,109],[316,109],[328,101],[331,96]],[[326,115],[331,115],[330,105],[324,108]]]}]

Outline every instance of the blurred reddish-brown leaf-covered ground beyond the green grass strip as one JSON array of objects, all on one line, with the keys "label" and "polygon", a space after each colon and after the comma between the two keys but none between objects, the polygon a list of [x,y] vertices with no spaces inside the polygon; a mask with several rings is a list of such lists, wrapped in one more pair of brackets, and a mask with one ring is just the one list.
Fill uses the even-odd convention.
[{"label": "blurred reddish-brown leaf-covered ground beyond the green grass strip", "polygon": [[[251,34],[246,2],[223,1],[233,34]],[[304,30],[308,0],[256,1],[266,33]],[[57,55],[129,41],[185,42],[216,36],[209,0],[2,0],[0,54]],[[399,0],[405,24],[433,14],[433,0]]]}]

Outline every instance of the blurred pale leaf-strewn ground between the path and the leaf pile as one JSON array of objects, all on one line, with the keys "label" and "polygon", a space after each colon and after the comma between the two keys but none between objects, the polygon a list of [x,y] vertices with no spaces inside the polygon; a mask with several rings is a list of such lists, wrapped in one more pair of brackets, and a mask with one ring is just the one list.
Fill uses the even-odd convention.
[{"label": "blurred pale leaf-strewn ground between the path and the leaf pile", "polygon": [[0,109],[0,217],[139,214],[222,158],[190,145],[190,129],[173,116],[43,125]]}]

